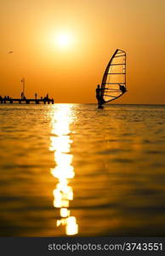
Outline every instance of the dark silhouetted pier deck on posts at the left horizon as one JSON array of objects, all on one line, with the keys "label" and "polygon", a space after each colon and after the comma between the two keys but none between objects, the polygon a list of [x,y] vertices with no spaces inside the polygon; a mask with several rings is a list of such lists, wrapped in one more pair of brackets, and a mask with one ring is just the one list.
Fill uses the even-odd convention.
[{"label": "dark silhouetted pier deck on posts at the left horizon", "polygon": [[1,104],[5,104],[5,103],[14,103],[14,102],[18,102],[19,104],[21,103],[26,103],[26,104],[30,104],[31,102],[34,102],[36,104],[40,104],[43,102],[43,104],[54,104],[54,99],[49,99],[49,98],[43,98],[43,99],[12,99],[12,98],[0,98],[0,103]]}]

